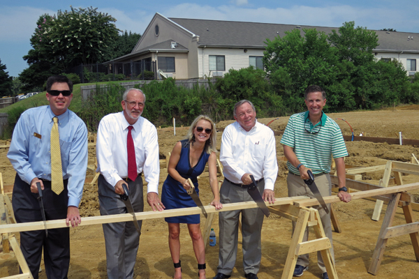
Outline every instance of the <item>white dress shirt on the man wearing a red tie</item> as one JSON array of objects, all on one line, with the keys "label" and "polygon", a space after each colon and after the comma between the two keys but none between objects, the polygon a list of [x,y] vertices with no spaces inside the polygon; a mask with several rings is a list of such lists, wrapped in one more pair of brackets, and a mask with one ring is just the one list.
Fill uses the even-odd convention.
[{"label": "white dress shirt on the man wearing a red tie", "polygon": [[[101,172],[106,181],[114,187],[119,180],[128,176],[128,126],[130,124],[126,121],[124,112],[117,112],[103,117],[98,127],[97,172]],[[144,173],[148,183],[147,193],[159,193],[160,163],[156,127],[140,116],[133,124],[131,135],[135,146],[137,173]]]}]

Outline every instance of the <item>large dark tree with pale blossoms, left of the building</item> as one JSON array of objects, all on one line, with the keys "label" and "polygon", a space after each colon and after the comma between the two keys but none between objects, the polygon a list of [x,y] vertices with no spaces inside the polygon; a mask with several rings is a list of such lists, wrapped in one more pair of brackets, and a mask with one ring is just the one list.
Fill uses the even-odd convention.
[{"label": "large dark tree with pale blossoms, left of the building", "polygon": [[58,11],[42,15],[31,37],[33,50],[24,56],[29,64],[20,76],[27,87],[42,86],[45,77],[59,74],[80,63],[105,60],[118,38],[115,18],[97,8]]}]

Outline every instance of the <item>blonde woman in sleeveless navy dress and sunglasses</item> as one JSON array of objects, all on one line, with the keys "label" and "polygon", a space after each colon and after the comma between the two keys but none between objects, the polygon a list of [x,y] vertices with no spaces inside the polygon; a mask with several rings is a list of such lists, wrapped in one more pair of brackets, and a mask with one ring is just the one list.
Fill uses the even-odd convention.
[{"label": "blonde woman in sleeveless navy dress and sunglasses", "polygon": [[[161,202],[166,209],[182,209],[196,206],[193,199],[186,193],[191,186],[188,179],[191,179],[199,194],[197,176],[202,174],[205,165],[208,163],[210,172],[210,186],[214,199],[211,205],[216,209],[223,206],[220,203],[219,187],[216,179],[216,130],[214,122],[204,115],[198,116],[191,127],[185,140],[177,142],[170,155],[168,165],[168,177],[163,183]],[[186,223],[189,235],[192,239],[193,251],[198,261],[198,275],[200,279],[205,278],[205,246],[200,230],[200,215],[176,216],[165,218],[169,228],[169,248],[175,266],[175,276],[182,278],[180,266],[180,242],[179,223]]]}]

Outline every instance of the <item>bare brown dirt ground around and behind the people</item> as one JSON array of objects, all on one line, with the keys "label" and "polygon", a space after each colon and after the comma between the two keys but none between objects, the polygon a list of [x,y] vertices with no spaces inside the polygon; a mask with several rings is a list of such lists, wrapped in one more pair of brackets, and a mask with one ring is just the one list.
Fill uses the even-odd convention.
[{"label": "bare brown dirt ground around and behind the people", "polygon": [[[419,106],[396,107],[390,110],[376,112],[348,112],[329,114],[332,119],[345,119],[353,127],[355,135],[363,133],[369,137],[399,137],[399,132],[405,139],[419,140]],[[261,123],[267,124],[273,119],[258,119]],[[286,127],[288,117],[280,117],[274,120],[270,127],[275,131],[283,131]],[[224,128],[233,121],[216,123],[217,128]],[[337,120],[344,135],[351,135],[351,130],[344,121]],[[186,134],[187,128],[176,128],[176,135],[173,135],[172,128],[159,128],[159,151],[161,158],[172,150],[177,140],[181,140]],[[279,144],[281,137],[277,140],[277,156],[284,156],[282,146]],[[1,143],[0,143],[1,144]],[[221,133],[218,135],[217,146],[221,144]],[[375,144],[372,142],[346,142],[349,156],[346,164],[357,166],[384,165],[386,160],[398,160],[409,162],[411,154],[419,157],[419,146],[399,146],[390,144]],[[6,158],[6,150],[0,149],[0,171],[3,174],[3,181],[6,185],[13,184],[15,172]],[[94,148],[89,149],[89,165],[94,165]],[[278,161],[279,174],[275,183],[276,197],[286,197],[286,163]],[[165,167],[165,166],[161,166]],[[87,181],[93,175],[87,173]],[[161,173],[161,184],[167,174]],[[370,172],[363,176],[363,181],[378,184],[383,176],[381,172]],[[419,177],[404,175],[405,183],[418,182]],[[204,204],[209,204],[212,198],[207,178],[202,178],[200,183],[201,199]],[[145,188],[146,189],[146,188]],[[161,190],[161,188],[160,188]],[[419,202],[419,190],[412,192]],[[335,247],[335,262],[339,278],[418,278],[419,263],[411,245],[409,236],[399,236],[388,241],[384,253],[383,262],[377,276],[367,273],[371,263],[372,252],[374,251],[377,236],[381,228],[384,211],[383,206],[381,219],[376,222],[371,220],[374,211],[374,202],[366,199],[357,199],[349,204],[336,203],[335,211],[341,223],[343,232],[333,233],[333,244]],[[145,203],[145,211],[150,207]],[[98,216],[97,186],[85,184],[80,212],[83,217]],[[419,212],[413,211],[416,220],[419,219]],[[201,216],[203,222],[205,217]],[[402,209],[397,211],[393,225],[404,224]],[[181,233],[181,260],[183,278],[198,278],[197,262],[193,254],[190,236],[186,226],[182,225]],[[212,223],[214,230],[218,232],[218,217]],[[173,265],[168,248],[168,229],[163,219],[145,220],[142,225],[140,237],[140,248],[138,250],[137,262],[135,265],[136,279],[143,278],[172,278]],[[311,232],[311,236],[313,233]],[[217,238],[217,241],[219,239]],[[288,248],[291,243],[291,221],[279,218],[271,214],[265,218],[262,230],[262,262],[258,277],[260,279],[281,278],[286,262]],[[244,278],[242,269],[241,238],[237,253],[237,262],[231,278]],[[207,247],[207,278],[216,274],[218,264],[219,246]],[[0,278],[13,276],[18,272],[17,262],[14,257],[1,253]],[[46,278],[43,262],[43,271],[40,278]],[[309,270],[302,278],[321,278],[321,271],[318,269],[316,255],[311,254]],[[82,226],[71,229],[71,266],[68,278],[107,278],[106,257],[103,231],[101,225]]]}]

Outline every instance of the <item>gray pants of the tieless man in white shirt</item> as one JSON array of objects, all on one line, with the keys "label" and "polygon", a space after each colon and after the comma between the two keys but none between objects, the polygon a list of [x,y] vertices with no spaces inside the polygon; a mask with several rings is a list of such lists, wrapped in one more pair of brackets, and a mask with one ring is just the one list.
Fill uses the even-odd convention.
[{"label": "gray pants of the tieless man in white shirt", "polygon": [[[262,194],[265,181],[258,183]],[[224,179],[220,190],[221,203],[253,201],[247,189],[240,188]],[[263,225],[263,212],[259,209],[241,209],[219,213],[219,266],[218,272],[230,275],[237,257],[237,239],[239,234],[239,216],[242,213],[242,251],[244,273],[258,273],[262,249],[260,232]]]}]

